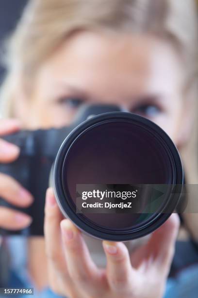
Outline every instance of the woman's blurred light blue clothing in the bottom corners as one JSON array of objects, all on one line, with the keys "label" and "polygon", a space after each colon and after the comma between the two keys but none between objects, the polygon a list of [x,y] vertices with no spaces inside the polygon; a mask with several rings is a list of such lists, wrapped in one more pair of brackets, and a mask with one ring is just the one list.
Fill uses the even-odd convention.
[{"label": "woman's blurred light blue clothing in the bottom corners", "polygon": [[[8,287],[33,287],[33,297],[35,298],[60,298],[49,288],[41,292],[36,291],[26,269],[25,238],[12,237],[9,240],[9,248],[12,267]],[[16,297],[31,298],[31,296]],[[182,270],[175,278],[169,278],[166,283],[164,298],[198,298],[198,264]]]}]

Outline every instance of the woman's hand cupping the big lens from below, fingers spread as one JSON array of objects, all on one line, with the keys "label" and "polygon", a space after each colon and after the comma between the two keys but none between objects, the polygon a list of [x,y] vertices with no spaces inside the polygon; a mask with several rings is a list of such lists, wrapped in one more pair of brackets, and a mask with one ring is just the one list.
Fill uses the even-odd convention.
[{"label": "woman's hand cupping the big lens from below, fingers spread", "polygon": [[103,242],[106,269],[92,261],[81,232],[62,218],[51,188],[45,207],[49,286],[72,298],[160,298],[174,253],[179,219],[173,214],[131,258],[122,242]]}]

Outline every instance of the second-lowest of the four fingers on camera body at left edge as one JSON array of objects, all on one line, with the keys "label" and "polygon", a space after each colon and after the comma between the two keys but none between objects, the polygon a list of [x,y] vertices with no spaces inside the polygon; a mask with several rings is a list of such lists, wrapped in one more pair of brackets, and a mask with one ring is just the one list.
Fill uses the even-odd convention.
[{"label": "second-lowest of the four fingers on camera body at left edge", "polygon": [[27,207],[33,203],[32,194],[14,178],[5,174],[0,174],[0,197],[19,207]]}]

